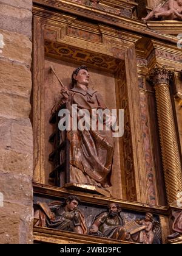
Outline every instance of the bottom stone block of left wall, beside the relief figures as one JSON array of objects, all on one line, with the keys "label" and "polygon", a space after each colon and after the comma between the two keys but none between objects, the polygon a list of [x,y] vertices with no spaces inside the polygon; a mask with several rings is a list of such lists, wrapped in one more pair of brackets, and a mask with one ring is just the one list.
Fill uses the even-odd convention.
[{"label": "bottom stone block of left wall, beside the relief figures", "polygon": [[4,244],[33,243],[33,208],[5,202],[0,208],[0,241]]}]

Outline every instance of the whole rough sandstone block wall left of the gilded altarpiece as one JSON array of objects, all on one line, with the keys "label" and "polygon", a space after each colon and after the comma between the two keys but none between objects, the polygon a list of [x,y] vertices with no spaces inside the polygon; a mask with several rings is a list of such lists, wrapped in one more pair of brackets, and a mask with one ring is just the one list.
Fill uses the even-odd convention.
[{"label": "whole rough sandstone block wall left of the gilded altarpiece", "polygon": [[0,243],[32,243],[32,0],[0,0]]}]

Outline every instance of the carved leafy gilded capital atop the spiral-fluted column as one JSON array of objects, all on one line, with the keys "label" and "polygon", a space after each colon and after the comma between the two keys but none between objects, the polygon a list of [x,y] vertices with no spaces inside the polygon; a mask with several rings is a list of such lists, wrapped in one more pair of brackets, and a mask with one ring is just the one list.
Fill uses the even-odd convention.
[{"label": "carved leafy gilded capital atop the spiral-fluted column", "polygon": [[167,66],[161,66],[157,64],[155,68],[153,68],[149,76],[147,76],[147,81],[152,85],[157,84],[167,84],[169,85],[170,80],[172,80],[174,74],[174,69],[169,68]]}]

